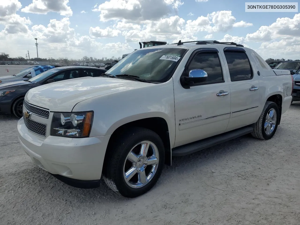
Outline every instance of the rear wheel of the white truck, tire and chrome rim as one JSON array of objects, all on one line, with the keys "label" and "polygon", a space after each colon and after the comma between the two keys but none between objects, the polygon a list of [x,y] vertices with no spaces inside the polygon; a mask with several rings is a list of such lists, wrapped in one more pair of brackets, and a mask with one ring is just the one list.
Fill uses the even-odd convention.
[{"label": "rear wheel of the white truck, tire and chrome rim", "polygon": [[[271,110],[275,112],[273,112],[273,115],[276,116],[276,118],[273,116],[272,119],[268,119],[267,115],[269,115]],[[277,104],[267,101],[259,119],[255,124],[255,127],[252,131],[252,136],[261,140],[271,139],[277,130],[279,116]]]}]

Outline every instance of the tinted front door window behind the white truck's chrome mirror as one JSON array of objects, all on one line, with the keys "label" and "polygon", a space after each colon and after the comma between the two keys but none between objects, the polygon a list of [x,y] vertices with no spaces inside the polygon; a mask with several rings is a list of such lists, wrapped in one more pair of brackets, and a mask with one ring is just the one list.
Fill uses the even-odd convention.
[{"label": "tinted front door window behind the white truck's chrome mirror", "polygon": [[201,52],[197,54],[188,66],[188,71],[201,69],[207,73],[206,82],[223,81],[220,59],[217,52]]}]

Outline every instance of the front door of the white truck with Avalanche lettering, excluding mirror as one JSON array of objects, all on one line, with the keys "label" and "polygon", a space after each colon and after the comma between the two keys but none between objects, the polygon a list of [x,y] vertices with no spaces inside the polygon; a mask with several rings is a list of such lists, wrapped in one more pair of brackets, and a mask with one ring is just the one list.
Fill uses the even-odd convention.
[{"label": "front door of the white truck with Avalanche lettering, excluding mirror", "polygon": [[230,90],[218,50],[199,50],[191,57],[187,71],[202,69],[207,73],[207,80],[188,89],[183,88],[179,80],[174,80],[174,147],[223,133],[229,122]]}]

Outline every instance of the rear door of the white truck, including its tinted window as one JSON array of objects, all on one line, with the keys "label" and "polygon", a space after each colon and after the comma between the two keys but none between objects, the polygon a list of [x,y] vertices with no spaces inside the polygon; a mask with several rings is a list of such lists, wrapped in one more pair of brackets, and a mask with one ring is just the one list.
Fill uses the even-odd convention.
[{"label": "rear door of the white truck, including its tinted window", "polygon": [[259,107],[259,79],[251,53],[239,47],[223,49],[226,72],[229,74],[230,119],[226,131],[241,128],[256,122]]}]

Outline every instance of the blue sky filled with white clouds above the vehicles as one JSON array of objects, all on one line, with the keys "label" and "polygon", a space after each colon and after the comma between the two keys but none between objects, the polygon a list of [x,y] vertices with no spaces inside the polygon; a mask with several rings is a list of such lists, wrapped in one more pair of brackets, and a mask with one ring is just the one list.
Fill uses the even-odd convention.
[{"label": "blue sky filled with white clouds above the vehicles", "polygon": [[[280,2],[290,2],[283,1]],[[262,58],[300,58],[300,13],[245,12],[240,0],[0,0],[0,52],[119,57],[139,41],[233,41]]]}]

